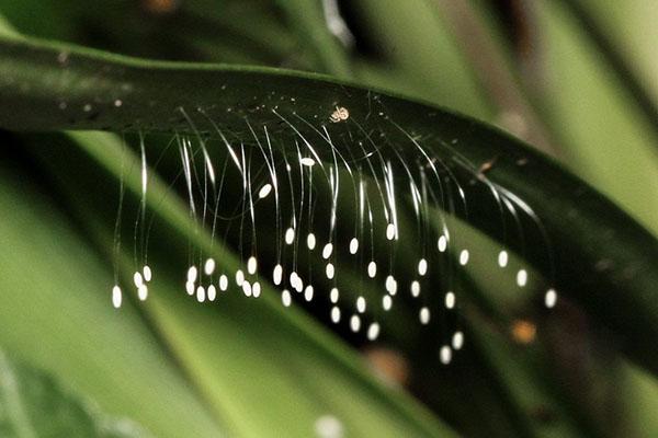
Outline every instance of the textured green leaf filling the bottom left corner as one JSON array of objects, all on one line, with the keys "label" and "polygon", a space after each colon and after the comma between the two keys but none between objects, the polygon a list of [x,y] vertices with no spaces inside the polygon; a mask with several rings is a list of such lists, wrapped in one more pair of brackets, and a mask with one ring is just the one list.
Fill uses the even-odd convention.
[{"label": "textured green leaf filling the bottom left corner", "polygon": [[0,434],[5,438],[146,438],[128,419],[113,419],[64,390],[43,371],[0,350]]}]

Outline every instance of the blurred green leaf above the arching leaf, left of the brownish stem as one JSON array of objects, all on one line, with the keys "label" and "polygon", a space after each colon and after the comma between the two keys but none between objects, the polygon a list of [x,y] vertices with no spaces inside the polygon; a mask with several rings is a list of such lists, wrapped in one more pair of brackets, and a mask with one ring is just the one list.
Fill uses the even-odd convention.
[{"label": "blurred green leaf above the arching leaf, left of the brownish stem", "polygon": [[375,47],[355,62],[354,77],[368,87],[422,99],[492,122],[491,102],[450,31],[449,18],[426,0],[355,0],[347,4]]}]

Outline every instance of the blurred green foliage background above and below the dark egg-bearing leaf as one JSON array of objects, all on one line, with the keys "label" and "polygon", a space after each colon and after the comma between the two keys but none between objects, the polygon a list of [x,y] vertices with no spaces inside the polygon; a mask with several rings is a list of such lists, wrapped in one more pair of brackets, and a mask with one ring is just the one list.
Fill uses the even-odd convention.
[{"label": "blurred green foliage background above and below the dark egg-bearing leaf", "polygon": [[[324,72],[470,115],[555,157],[658,235],[653,0],[0,0],[0,14],[45,39]],[[332,420],[336,437],[658,435],[656,379],[613,334],[578,308],[536,316],[532,297],[477,261],[473,337],[449,368],[400,339],[361,345],[275,297],[184,300],[194,237],[183,201],[164,195],[167,163],[151,186],[166,199],[152,206],[164,218],[154,241],[168,239],[151,250],[152,297],[115,312],[117,175],[135,157],[107,134],[1,138],[2,436],[311,437]],[[128,193],[127,210],[137,201]],[[422,349],[419,336],[402,341]]]}]

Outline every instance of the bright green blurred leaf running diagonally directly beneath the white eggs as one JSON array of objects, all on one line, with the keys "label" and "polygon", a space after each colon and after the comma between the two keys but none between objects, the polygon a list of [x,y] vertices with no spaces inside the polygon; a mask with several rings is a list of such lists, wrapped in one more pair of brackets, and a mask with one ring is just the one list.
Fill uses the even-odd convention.
[{"label": "bright green blurred leaf running diagonally directly beneath the white eggs", "polygon": [[[102,165],[113,171],[122,166],[125,158],[121,143],[112,136],[77,132],[73,137]],[[91,178],[98,171],[89,169],[90,174],[76,176],[60,174],[57,169],[70,162],[75,152],[67,143],[52,143],[52,148],[54,153],[42,154],[42,159],[53,166],[79,209],[92,208],[81,211],[81,216],[94,228],[92,218],[106,204],[102,192],[80,195],[77,189],[80,177]],[[138,191],[139,175],[127,175],[126,184]],[[161,201],[167,199],[161,196],[166,192],[166,185],[152,182],[154,208],[169,226],[186,229],[184,208],[173,200]],[[149,256],[156,265],[173,262],[174,241],[171,233],[166,234],[170,235],[167,249],[156,246]],[[195,239],[207,247],[207,235]],[[100,240],[105,245],[107,241]],[[218,264],[235,270],[235,256],[217,247],[213,251]],[[184,254],[179,253],[182,266]],[[241,292],[231,287],[217,307],[207,307],[183,299],[189,297],[181,295],[178,284],[175,276],[162,272],[141,306],[175,362],[190,376],[209,408],[226,422],[230,435],[308,436],[318,418],[329,414],[341,420],[348,435],[451,434],[404,394],[379,388],[352,353],[298,312],[284,311],[279,296],[269,288],[261,299],[246,303]]]}]

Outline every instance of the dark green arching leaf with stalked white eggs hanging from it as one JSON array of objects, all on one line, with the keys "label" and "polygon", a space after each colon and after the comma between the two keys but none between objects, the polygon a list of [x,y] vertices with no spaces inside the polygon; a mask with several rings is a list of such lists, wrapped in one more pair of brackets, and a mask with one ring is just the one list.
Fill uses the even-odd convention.
[{"label": "dark green arching leaf with stalked white eggs hanging from it", "polygon": [[[308,122],[317,119],[336,138],[347,138],[354,126],[378,130],[410,160],[421,142],[462,180],[473,180],[480,164],[494,160],[487,181],[523,199],[551,238],[548,246],[540,230],[527,232],[524,242],[504,244],[615,331],[635,360],[658,371],[658,346],[650,341],[658,336],[656,240],[580,180],[496,130],[313,74],[157,64],[34,41],[5,41],[2,53],[0,102],[12,111],[2,114],[0,124],[10,129],[196,130],[213,136],[219,128],[245,140],[248,119],[252,126],[268,126],[277,143],[304,136],[327,155],[329,145]],[[328,124],[337,105],[349,108],[348,124]],[[308,124],[298,123],[293,130],[281,115]],[[468,199],[465,219],[501,239],[490,187],[469,187]],[[536,230],[532,217],[521,219],[524,230]]]}]

